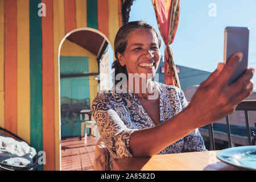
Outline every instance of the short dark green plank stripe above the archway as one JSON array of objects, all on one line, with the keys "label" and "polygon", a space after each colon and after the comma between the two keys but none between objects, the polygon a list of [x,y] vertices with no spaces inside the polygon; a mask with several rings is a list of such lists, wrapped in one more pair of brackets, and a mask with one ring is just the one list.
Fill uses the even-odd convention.
[{"label": "short dark green plank stripe above the archway", "polygon": [[87,0],[87,26],[90,28],[98,29],[98,1]]}]

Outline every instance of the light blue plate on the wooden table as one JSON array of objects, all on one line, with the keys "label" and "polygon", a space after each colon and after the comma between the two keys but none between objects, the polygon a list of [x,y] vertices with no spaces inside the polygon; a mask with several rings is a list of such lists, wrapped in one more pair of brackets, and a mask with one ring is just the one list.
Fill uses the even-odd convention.
[{"label": "light blue plate on the wooden table", "polygon": [[216,156],[227,164],[256,170],[256,146],[226,148],[218,152]]}]

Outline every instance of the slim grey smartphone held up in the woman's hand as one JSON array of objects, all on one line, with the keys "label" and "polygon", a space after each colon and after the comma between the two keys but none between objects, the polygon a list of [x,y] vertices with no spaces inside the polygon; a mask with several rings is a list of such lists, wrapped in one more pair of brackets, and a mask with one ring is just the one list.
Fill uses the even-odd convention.
[{"label": "slim grey smartphone held up in the woman's hand", "polygon": [[224,43],[224,64],[228,63],[229,58],[236,52],[243,53],[243,59],[238,64],[228,84],[231,85],[246,72],[248,65],[249,50],[249,30],[247,27],[226,27]]}]

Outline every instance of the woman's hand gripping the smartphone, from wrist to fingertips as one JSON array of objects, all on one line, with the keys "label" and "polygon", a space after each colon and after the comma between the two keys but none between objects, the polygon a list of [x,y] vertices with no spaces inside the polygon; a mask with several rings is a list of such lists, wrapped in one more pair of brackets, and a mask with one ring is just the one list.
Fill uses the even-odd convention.
[{"label": "woman's hand gripping the smartphone, from wrist to fingertips", "polygon": [[242,53],[235,53],[226,65],[219,63],[216,71],[200,84],[188,105],[193,117],[199,118],[196,119],[198,127],[233,113],[237,104],[251,95],[253,68],[247,69],[242,77],[228,85],[229,78],[242,60],[242,56]]}]

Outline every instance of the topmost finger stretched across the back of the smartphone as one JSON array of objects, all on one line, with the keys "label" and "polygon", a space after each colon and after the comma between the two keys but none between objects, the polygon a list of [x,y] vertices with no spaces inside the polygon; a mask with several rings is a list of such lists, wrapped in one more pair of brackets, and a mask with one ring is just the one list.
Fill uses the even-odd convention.
[{"label": "topmost finger stretched across the back of the smartphone", "polygon": [[229,78],[233,75],[242,57],[243,54],[241,52],[234,53],[234,55],[230,57],[228,63],[222,69],[220,77],[218,77],[218,83],[220,85],[228,85]]}]

